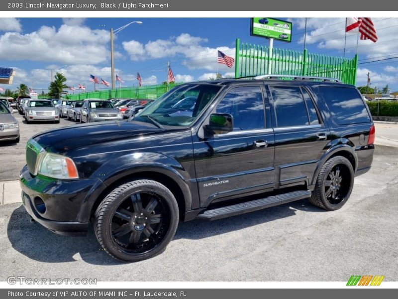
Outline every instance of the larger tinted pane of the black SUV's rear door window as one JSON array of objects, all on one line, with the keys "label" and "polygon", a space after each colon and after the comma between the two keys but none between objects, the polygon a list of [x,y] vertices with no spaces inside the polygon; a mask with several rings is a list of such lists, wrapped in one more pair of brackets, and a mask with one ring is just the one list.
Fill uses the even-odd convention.
[{"label": "larger tinted pane of the black SUV's rear door window", "polygon": [[278,127],[308,125],[307,109],[301,90],[296,86],[270,86]]}]

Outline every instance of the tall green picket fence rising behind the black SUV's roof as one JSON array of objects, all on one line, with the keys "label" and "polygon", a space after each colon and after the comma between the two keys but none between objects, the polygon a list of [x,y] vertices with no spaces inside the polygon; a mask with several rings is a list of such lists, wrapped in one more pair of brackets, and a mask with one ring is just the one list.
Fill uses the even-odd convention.
[{"label": "tall green picket fence rising behind the black SUV's roof", "polygon": [[268,74],[329,77],[355,84],[358,55],[353,59],[240,43],[236,39],[235,78]]}]

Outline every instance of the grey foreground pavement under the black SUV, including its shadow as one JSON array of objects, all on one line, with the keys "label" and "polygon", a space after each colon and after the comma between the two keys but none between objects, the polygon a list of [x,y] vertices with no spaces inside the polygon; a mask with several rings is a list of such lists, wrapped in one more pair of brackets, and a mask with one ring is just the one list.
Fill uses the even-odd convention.
[{"label": "grey foreground pavement under the black SUV, including its shadow", "polygon": [[347,281],[354,274],[397,281],[397,210],[397,148],[384,146],[376,147],[371,171],[355,179],[340,210],[327,212],[305,199],[181,223],[163,254],[137,263],[110,258],[92,230],[87,237],[58,236],[30,223],[20,203],[7,204],[0,207],[0,281]]}]

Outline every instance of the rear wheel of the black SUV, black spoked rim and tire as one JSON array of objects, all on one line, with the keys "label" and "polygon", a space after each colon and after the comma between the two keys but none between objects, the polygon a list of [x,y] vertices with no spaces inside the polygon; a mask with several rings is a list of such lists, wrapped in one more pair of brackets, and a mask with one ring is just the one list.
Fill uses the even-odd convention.
[{"label": "rear wheel of the black SUV, black spoked rim and tire", "polygon": [[354,184],[354,169],[343,156],[335,156],[323,164],[316,179],[310,202],[322,209],[340,209],[351,195]]}]

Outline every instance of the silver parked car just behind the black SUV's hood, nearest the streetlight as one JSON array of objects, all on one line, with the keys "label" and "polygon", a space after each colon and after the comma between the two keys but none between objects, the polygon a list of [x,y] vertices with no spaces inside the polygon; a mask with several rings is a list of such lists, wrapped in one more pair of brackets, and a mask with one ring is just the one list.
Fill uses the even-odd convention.
[{"label": "silver parked car just behind the black SUV's hood, nearest the streetlight", "polygon": [[87,99],[80,108],[80,122],[122,120],[123,116],[111,101]]}]

